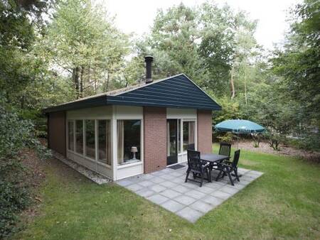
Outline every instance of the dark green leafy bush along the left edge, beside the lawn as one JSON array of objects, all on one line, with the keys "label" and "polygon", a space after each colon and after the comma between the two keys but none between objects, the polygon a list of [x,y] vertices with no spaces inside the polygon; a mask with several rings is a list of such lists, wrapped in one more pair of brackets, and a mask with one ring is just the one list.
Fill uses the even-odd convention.
[{"label": "dark green leafy bush along the left edge, beside the lawn", "polygon": [[33,148],[40,158],[50,152],[34,135],[33,123],[0,106],[0,239],[15,230],[17,214],[30,204],[25,181],[27,169],[19,155],[23,148]]}]

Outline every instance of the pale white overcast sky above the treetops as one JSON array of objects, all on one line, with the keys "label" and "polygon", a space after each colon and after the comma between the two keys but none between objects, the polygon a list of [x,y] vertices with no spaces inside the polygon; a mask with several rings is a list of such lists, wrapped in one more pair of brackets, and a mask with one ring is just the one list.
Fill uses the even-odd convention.
[{"label": "pale white overcast sky above the treetops", "polygon": [[[117,28],[124,33],[142,36],[149,31],[157,9],[168,9],[181,2],[186,6],[196,6],[204,0],[110,0],[105,1],[111,16],[115,16]],[[252,20],[257,19],[255,37],[257,43],[272,49],[274,43],[281,44],[288,30],[287,10],[301,0],[215,0],[219,5],[227,3],[233,9],[247,11]]]}]

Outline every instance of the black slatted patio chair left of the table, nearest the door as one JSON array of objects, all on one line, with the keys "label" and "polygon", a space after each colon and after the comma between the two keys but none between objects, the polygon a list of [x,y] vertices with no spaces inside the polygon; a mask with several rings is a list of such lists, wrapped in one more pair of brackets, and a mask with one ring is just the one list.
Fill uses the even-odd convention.
[{"label": "black slatted patio chair left of the table, nearest the door", "polygon": [[[205,174],[207,175],[207,180],[210,182],[210,170],[209,163],[203,164],[203,161],[200,158],[200,152],[193,151],[188,149],[188,169],[186,171],[186,181],[191,180],[194,182],[199,182],[200,187],[203,185],[203,179],[205,179]],[[193,179],[188,178],[189,174],[193,174]],[[201,178],[200,181],[197,181],[196,178]]]}]

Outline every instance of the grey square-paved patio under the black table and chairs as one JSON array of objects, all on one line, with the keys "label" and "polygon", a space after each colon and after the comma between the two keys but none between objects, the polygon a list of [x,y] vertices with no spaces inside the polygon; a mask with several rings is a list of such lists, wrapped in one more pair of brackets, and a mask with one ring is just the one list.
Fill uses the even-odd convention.
[{"label": "grey square-paved patio under the black table and chairs", "polygon": [[[203,187],[199,187],[197,182],[184,182],[186,164],[183,165],[183,168],[177,170],[166,168],[119,180],[117,184],[194,223],[263,174],[255,170],[238,168],[238,173],[242,177],[240,182],[235,181],[234,186],[230,185],[228,178],[224,178],[218,182],[205,181]],[[213,171],[213,179],[216,175],[217,173]]]}]

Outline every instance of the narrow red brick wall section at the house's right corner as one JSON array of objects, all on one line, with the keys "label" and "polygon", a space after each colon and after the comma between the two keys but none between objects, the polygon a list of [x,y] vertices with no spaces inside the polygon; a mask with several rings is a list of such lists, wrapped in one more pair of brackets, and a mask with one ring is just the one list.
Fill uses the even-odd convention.
[{"label": "narrow red brick wall section at the house's right corner", "polygon": [[212,114],[210,110],[198,110],[198,151],[212,152]]}]

